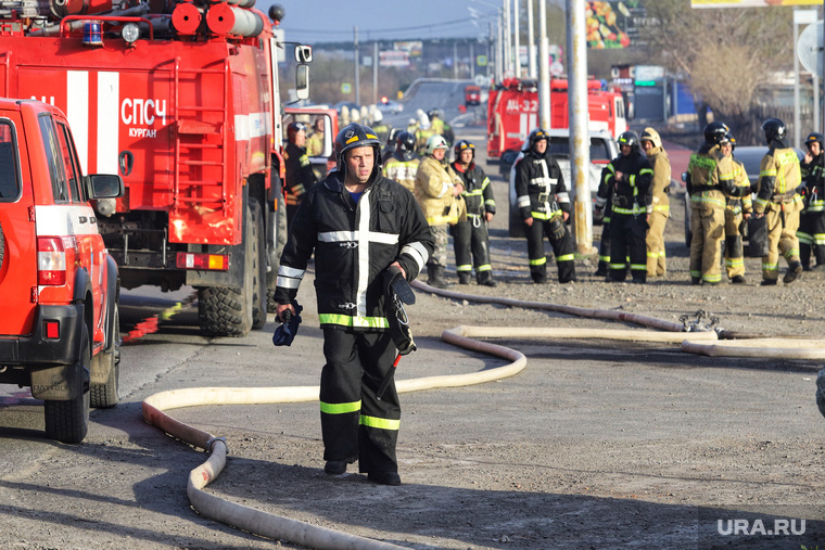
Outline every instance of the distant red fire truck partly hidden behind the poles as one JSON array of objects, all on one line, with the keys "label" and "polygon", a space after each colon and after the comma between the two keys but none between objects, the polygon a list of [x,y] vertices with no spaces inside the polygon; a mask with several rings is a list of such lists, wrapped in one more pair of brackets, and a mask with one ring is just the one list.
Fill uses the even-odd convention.
[{"label": "distant red fire truck partly hidden behind the poles", "polygon": [[[605,91],[598,80],[587,81],[589,130],[618,136],[627,129],[622,95]],[[538,89],[535,80],[505,80],[487,100],[487,158],[511,164],[530,132],[538,127]],[[550,79],[550,127],[568,128],[568,81]],[[509,158],[511,157],[511,158]]]}]

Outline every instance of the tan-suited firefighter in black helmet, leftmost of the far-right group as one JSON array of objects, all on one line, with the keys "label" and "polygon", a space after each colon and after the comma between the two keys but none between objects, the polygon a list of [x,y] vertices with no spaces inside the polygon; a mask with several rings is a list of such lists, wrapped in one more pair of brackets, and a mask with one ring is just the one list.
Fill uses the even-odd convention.
[{"label": "tan-suited firefighter in black helmet, leftmost of the far-right group", "polygon": [[722,123],[705,127],[705,144],[690,155],[687,164],[687,192],[690,195],[690,280],[694,284],[715,285],[722,281],[721,245],[725,236],[727,196],[741,196],[734,184],[733,159],[722,154],[720,143],[728,128]]}]

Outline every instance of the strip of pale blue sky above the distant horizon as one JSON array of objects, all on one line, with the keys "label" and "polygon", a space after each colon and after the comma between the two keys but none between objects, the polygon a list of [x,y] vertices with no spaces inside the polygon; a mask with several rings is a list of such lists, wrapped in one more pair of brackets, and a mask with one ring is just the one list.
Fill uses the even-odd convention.
[{"label": "strip of pale blue sky above the distant horizon", "polygon": [[[360,40],[488,36],[491,14],[502,5],[500,0],[257,0],[255,8],[267,13],[274,3],[287,11],[281,22],[287,40],[305,43],[352,40],[355,25]],[[468,8],[483,17],[479,26]]]}]

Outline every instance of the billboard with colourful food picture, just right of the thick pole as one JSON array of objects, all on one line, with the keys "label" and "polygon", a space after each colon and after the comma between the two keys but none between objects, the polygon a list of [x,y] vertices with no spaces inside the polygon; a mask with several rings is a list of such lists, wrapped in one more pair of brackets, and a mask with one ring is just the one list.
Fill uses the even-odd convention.
[{"label": "billboard with colourful food picture, just right of the thick pole", "polygon": [[595,50],[638,46],[637,23],[645,22],[642,0],[586,2],[587,48]]}]

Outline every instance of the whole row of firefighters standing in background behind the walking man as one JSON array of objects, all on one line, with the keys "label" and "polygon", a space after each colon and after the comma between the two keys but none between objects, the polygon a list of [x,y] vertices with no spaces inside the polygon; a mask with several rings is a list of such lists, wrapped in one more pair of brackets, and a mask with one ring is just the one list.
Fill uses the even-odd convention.
[{"label": "whole row of firefighters standing in background behind the walking man", "polygon": [[[469,284],[474,271],[478,284],[496,286],[487,233],[495,215],[490,178],[475,164],[475,146],[468,140],[455,143],[454,159],[448,162],[448,127],[437,110],[421,114],[429,124],[411,119],[407,129],[388,131],[381,126],[376,135],[382,141],[384,135],[388,138],[382,153],[383,175],[415,194],[432,228],[435,251],[427,266],[428,283],[439,289],[447,285],[450,233],[459,284]],[[309,138],[307,130],[302,123],[288,128],[288,189],[296,199],[289,207],[290,219],[302,194],[316,181],[308,156],[322,146],[323,127],[318,125]],[[722,281],[722,250],[731,283],[746,282],[742,234],[748,225],[751,248],[764,248],[763,285],[777,284],[779,255],[788,264],[785,284],[804,270],[825,269],[823,136],[808,136],[808,151],[800,163],[786,142],[782,120],[770,118],[762,130],[769,152],[753,187],[745,167],[735,158],[736,138],[723,123],[714,121],[705,128],[705,143],[690,156],[686,186],[691,210],[689,271],[694,284],[714,285]],[[602,170],[596,197],[594,218],[602,220],[602,231],[595,274],[607,281],[624,281],[630,272],[632,282],[644,284],[648,278],[667,277],[663,233],[670,217],[671,165],[653,128],[645,128],[640,137],[625,131],[618,142],[620,155]],[[571,204],[546,131],[535,129],[530,133],[513,171],[532,280],[547,281],[547,238],[556,257],[558,281],[575,281],[575,245],[567,228]],[[751,200],[752,193],[757,193],[756,200]]]}]

